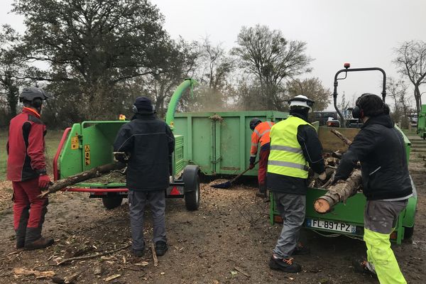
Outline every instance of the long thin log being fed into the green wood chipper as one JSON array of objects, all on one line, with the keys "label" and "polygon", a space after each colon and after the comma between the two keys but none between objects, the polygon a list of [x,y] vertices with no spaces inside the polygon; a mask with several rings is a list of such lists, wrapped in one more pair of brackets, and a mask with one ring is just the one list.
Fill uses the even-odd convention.
[{"label": "long thin log being fed into the green wood chipper", "polygon": [[48,190],[42,192],[40,197],[45,197],[50,193],[57,192],[58,190],[62,190],[65,187],[69,187],[70,185],[75,185],[78,182],[83,182],[84,180],[90,180],[91,178],[98,178],[101,175],[111,172],[112,170],[121,170],[126,167],[126,164],[116,162],[107,165],[99,165],[96,168],[92,168],[91,170],[86,170],[82,173],[77,173],[77,175],[72,175],[68,178],[63,178],[62,180],[57,180],[53,185],[50,185]]}]

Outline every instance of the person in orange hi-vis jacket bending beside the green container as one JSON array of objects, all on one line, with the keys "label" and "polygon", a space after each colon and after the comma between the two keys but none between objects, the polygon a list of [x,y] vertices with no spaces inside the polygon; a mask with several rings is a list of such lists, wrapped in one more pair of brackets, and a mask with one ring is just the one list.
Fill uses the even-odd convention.
[{"label": "person in orange hi-vis jacket bending beside the green container", "polygon": [[256,192],[256,196],[263,198],[266,198],[266,168],[268,166],[269,144],[271,142],[271,139],[269,138],[269,132],[271,131],[272,126],[273,122],[262,122],[257,117],[251,119],[250,121],[250,129],[253,131],[253,133],[251,134],[249,168],[254,168],[254,163],[258,151],[258,144],[261,143],[258,170],[259,190]]}]

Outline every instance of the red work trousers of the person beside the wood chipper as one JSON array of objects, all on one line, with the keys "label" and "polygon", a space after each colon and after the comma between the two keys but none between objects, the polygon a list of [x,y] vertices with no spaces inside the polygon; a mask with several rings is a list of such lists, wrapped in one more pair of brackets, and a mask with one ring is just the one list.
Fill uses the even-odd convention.
[{"label": "red work trousers of the person beside the wood chipper", "polygon": [[[45,214],[48,212],[48,198],[38,197],[41,190],[38,178],[13,185],[13,226],[16,241],[34,241],[41,236]],[[28,228],[28,230],[27,230]]]}]

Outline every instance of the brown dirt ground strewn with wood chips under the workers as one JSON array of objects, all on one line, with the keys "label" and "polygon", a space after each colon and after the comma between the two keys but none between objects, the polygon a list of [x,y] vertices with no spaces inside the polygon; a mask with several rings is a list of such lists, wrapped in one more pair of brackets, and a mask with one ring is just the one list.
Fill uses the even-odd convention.
[{"label": "brown dirt ground strewn with wood chips under the workers", "polygon": [[[393,245],[408,283],[426,283],[426,168],[413,155],[410,173],[418,193],[413,238]],[[0,182],[0,283],[53,283],[50,279],[17,276],[13,268],[53,271],[74,283],[378,283],[354,273],[351,259],[365,255],[365,245],[346,236],[327,238],[303,230],[309,256],[296,256],[297,274],[271,271],[268,260],[281,226],[271,226],[269,204],[255,197],[255,187],[237,185],[217,190],[202,185],[200,209],[188,212],[183,200],[167,200],[166,226],[170,249],[153,266],[151,251],[143,259],[123,249],[106,256],[57,265],[64,258],[109,251],[130,243],[127,200],[104,209],[87,194],[60,192],[50,197],[43,229],[55,244],[39,251],[15,251],[11,184]],[[151,214],[146,212],[146,239],[151,239]],[[146,261],[146,262],[144,262]],[[116,278],[114,278],[116,277]],[[110,278],[114,278],[109,280]]]}]

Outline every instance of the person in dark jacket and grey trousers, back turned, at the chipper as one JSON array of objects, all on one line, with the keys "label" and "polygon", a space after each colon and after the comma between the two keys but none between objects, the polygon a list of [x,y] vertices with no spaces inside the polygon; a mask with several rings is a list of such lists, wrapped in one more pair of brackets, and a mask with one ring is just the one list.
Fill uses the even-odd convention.
[{"label": "person in dark jacket and grey trousers, back turned, at the chipper", "polygon": [[170,158],[175,138],[164,121],[156,119],[155,109],[147,97],[133,104],[135,115],[121,126],[114,142],[116,160],[127,163],[126,185],[129,188],[132,252],[143,256],[143,210],[148,202],[153,214],[155,252],[163,256],[168,250],[165,235],[165,189],[170,182]]}]

